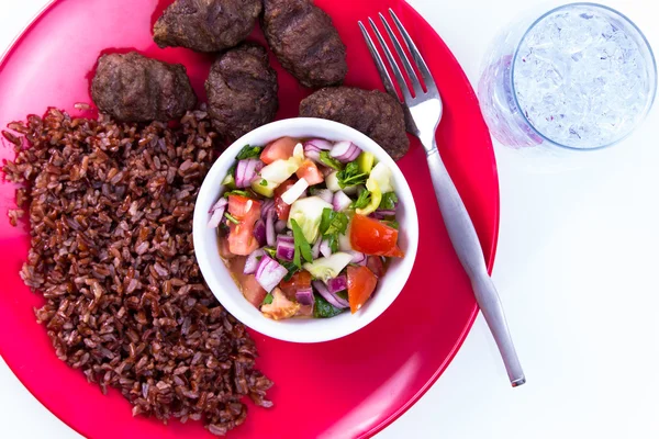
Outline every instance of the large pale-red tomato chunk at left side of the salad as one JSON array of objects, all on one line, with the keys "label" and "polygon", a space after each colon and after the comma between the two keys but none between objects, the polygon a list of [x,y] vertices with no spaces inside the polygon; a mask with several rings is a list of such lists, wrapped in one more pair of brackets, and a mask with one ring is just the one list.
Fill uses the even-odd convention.
[{"label": "large pale-red tomato chunk at left side of the salad", "polygon": [[241,195],[228,195],[228,213],[239,224],[231,223],[228,250],[234,255],[247,256],[258,248],[254,237],[254,223],[260,217],[260,202]]}]

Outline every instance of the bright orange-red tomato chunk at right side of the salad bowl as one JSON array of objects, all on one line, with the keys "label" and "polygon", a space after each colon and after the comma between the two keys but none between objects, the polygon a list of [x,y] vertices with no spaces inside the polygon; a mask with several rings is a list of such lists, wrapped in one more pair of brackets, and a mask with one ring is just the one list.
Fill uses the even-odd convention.
[{"label": "bright orange-red tomato chunk at right side of the salad bowl", "polygon": [[355,215],[350,224],[350,245],[354,250],[373,256],[402,258],[405,254],[398,246],[398,230],[378,219]]}]

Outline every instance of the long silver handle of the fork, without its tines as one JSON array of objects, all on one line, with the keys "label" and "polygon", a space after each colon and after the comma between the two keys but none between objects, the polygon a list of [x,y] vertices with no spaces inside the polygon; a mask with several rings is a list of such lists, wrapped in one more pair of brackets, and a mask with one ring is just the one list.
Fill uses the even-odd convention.
[{"label": "long silver handle of the fork, without its tines", "polygon": [[499,347],[505,370],[513,387],[526,382],[517,352],[513,346],[513,339],[509,331],[501,300],[488,274],[483,251],[473,228],[473,223],[465,207],[444,162],[437,150],[437,144],[433,136],[432,147],[426,148],[428,167],[433,179],[433,188],[439,203],[439,210],[453,246],[462,263],[465,271],[471,280],[471,286],[476,295],[494,341]]}]

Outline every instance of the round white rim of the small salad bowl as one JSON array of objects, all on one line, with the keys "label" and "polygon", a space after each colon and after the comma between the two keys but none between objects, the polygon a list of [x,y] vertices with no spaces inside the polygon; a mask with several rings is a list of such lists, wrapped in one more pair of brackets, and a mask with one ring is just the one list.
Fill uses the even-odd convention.
[{"label": "round white rim of the small salad bowl", "polygon": [[[242,295],[239,289],[234,282],[232,282],[232,285],[228,288],[235,289],[235,291],[238,292],[242,299],[242,303],[238,303],[241,301],[236,301],[233,297],[230,297],[228,291],[231,290],[225,290],[226,285],[222,285],[216,281],[215,274],[213,273],[216,267],[209,260],[209,258],[206,257],[206,252],[202,251],[202,249],[204,248],[208,249],[209,246],[209,229],[206,227],[209,213],[204,206],[206,204],[214,203],[219,195],[219,190],[216,188],[211,187],[211,180],[217,179],[217,175],[223,172],[224,168],[228,168],[228,164],[235,160],[235,156],[237,155],[239,149],[244,145],[249,144],[249,140],[252,138],[263,137],[264,135],[267,135],[267,133],[276,132],[277,134],[273,134],[271,136],[272,139],[276,139],[281,136],[286,136],[286,132],[299,130],[301,127],[309,130],[310,132],[317,131],[319,128],[326,132],[336,132],[337,135],[342,136],[342,138],[349,139],[356,143],[360,148],[373,153],[378,161],[384,162],[391,169],[395,180],[396,194],[399,194],[401,200],[405,200],[403,202],[405,227],[402,228],[402,230],[404,230],[404,233],[402,234],[403,239],[406,241],[405,256],[402,259],[400,259],[400,262],[395,267],[395,272],[391,273],[395,274],[395,277],[392,277],[390,274],[390,277],[387,278],[388,292],[386,296],[388,300],[381,300],[378,303],[376,301],[378,300],[378,297],[381,297],[382,294],[377,294],[376,296],[373,296],[371,301],[369,301],[368,305],[370,305],[371,303],[378,303],[378,308],[373,313],[367,314],[366,316],[360,316],[359,314],[350,315],[346,313],[343,316],[336,316],[331,319],[311,318],[279,322],[270,320],[264,317],[256,307],[254,307],[249,302],[247,302],[247,300]],[[319,135],[319,137],[326,136]],[[211,199],[210,202],[208,201],[209,199]],[[418,216],[416,212],[416,205],[414,203],[414,198],[412,195],[412,191],[410,189],[407,180],[405,179],[405,176],[398,167],[398,165],[393,161],[393,159],[391,159],[391,157],[387,154],[387,151],[375,140],[372,140],[365,134],[338,122],[315,117],[292,117],[275,121],[250,131],[249,133],[238,138],[236,142],[234,142],[222,153],[220,157],[215,159],[213,166],[204,177],[203,183],[199,190],[198,199],[194,206],[192,237],[197,262],[200,267],[201,273],[209,289],[217,299],[217,301],[222,304],[222,306],[224,306],[224,308],[228,313],[231,313],[236,319],[242,322],[248,328],[256,330],[257,333],[279,340],[301,344],[323,342],[348,336],[366,327],[368,324],[370,324],[380,315],[382,315],[384,311],[387,311],[389,306],[391,306],[391,304],[395,301],[395,299],[403,290],[405,283],[407,282],[407,279],[410,278],[416,258],[416,252],[418,248]],[[227,268],[223,263],[222,266],[223,270],[227,270]],[[257,311],[258,318],[255,317],[255,313],[253,311]],[[347,320],[348,324],[342,324],[342,320],[336,320],[340,317],[344,317],[343,320]],[[348,319],[346,319],[345,317],[348,317]],[[323,325],[322,322],[331,320],[336,323],[332,327],[332,329],[321,330],[320,334],[312,330],[300,330],[299,328],[299,326],[301,325],[305,325],[309,328],[312,326]],[[297,330],[288,329],[293,325],[298,327]],[[330,325],[324,324],[324,326]]]}]

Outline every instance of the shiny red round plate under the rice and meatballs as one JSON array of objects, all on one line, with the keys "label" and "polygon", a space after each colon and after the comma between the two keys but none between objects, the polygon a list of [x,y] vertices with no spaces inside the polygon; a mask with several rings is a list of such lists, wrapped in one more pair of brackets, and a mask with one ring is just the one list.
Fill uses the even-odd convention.
[{"label": "shiny red round plate under the rice and meatballs", "polygon": [[[19,38],[0,65],[0,125],[42,114],[56,105],[90,102],[88,88],[101,52],[138,50],[187,66],[203,94],[211,56],[156,47],[150,38],[154,15],[170,0],[55,1]],[[361,40],[357,20],[392,8],[411,31],[440,86],[445,114],[437,139],[442,156],[478,229],[489,267],[494,260],[499,226],[499,185],[490,135],[473,91],[456,59],[433,29],[400,0],[316,3],[332,15],[348,46],[347,85],[368,89],[382,85]],[[157,16],[157,15],[156,15]],[[261,40],[260,33],[254,35]],[[279,71],[279,117],[297,115],[309,93]],[[2,138],[2,142],[4,139]],[[12,158],[4,142],[0,158]],[[382,429],[433,384],[465,339],[478,312],[439,216],[423,148],[413,142],[401,161],[416,198],[421,243],[405,290],[376,322],[340,340],[295,345],[253,334],[259,367],[276,385],[275,408],[250,407],[247,421],[233,437],[365,437]],[[56,416],[89,438],[181,438],[210,436],[201,423],[133,418],[116,391],[103,396],[85,376],[57,360],[33,306],[42,299],[19,278],[29,246],[26,227],[13,228],[7,210],[14,188],[0,185],[0,352],[25,386]],[[197,436],[197,437],[199,437]]]}]

